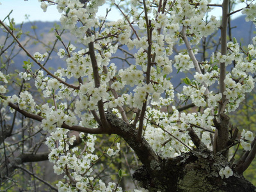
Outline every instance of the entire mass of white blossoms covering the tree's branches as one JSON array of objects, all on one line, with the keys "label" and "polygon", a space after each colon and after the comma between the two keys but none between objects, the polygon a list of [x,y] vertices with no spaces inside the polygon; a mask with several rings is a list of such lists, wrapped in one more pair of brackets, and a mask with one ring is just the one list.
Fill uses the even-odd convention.
[{"label": "entire mass of white blossoms covering the tree's branches", "polygon": [[[36,104],[31,93],[22,91],[19,96],[8,97],[4,104],[12,102],[17,104],[19,109],[44,118],[40,126],[49,133],[46,144],[51,149],[49,161],[54,163],[54,173],[63,174],[65,179],[71,180],[67,183],[59,182],[59,191],[86,191],[88,186],[95,183],[95,192],[122,191],[117,184],[106,184],[96,179],[92,173],[92,167],[97,166],[95,163],[100,158],[93,154],[96,137],[81,132],[79,139],[84,144],[82,150],[73,146],[77,137],[70,136],[70,132],[60,128],[61,126],[79,125],[95,129],[102,118],[100,112],[111,110],[122,117],[122,109],[131,109],[138,113],[147,104],[143,136],[159,156],[175,157],[194,147],[188,134],[191,129],[202,143],[211,147],[210,134],[214,132],[212,120],[214,113],[218,112],[220,100],[225,99],[226,111],[234,111],[244,99],[245,93],[253,90],[253,76],[256,74],[256,37],[253,38],[253,45],[248,45],[246,51],[241,51],[236,40],[228,42],[227,54],[216,51],[212,53],[209,61],[196,62],[191,56],[198,54],[194,47],[188,51],[179,50],[179,53],[173,56],[173,52],[177,50],[175,44],[184,44],[187,36],[189,44],[197,45],[201,38],[211,35],[220,27],[220,21],[214,16],[205,17],[205,13],[211,11],[207,0],[164,2],[165,9],[160,12],[155,6],[158,1],[145,1],[145,12],[140,9],[140,1],[132,0],[129,13],[124,13],[123,19],[113,22],[107,22],[109,10],[106,17],[97,17],[98,8],[105,3],[104,0],[84,3],[79,0],[41,2],[44,12],[47,11],[47,6],[56,5],[58,12],[62,13],[60,22],[63,28],[76,36],[77,42],[85,48],[77,51],[77,47],[68,44],[67,47],[58,49],[57,55],[65,61],[66,66],[53,74],[47,70],[46,74],[43,70],[33,73],[31,63],[24,62],[25,72],[20,72],[19,76],[25,81],[34,79],[36,88],[51,102]],[[120,4],[116,3],[116,6]],[[244,8],[243,13],[247,15],[247,20],[255,17],[255,8],[255,4]],[[141,33],[140,30],[146,32]],[[186,35],[182,36],[183,30]],[[58,39],[61,40],[60,36]],[[127,47],[131,52],[123,47]],[[120,51],[124,54],[119,54]],[[40,63],[47,56],[47,53],[35,52],[33,58],[41,67]],[[125,65],[113,58],[125,61]],[[223,63],[226,67],[232,63],[236,65],[227,72],[223,82],[225,91],[222,95],[216,87],[220,85],[219,66]],[[183,79],[186,85],[182,84],[182,90],[173,88],[173,67],[178,73],[193,72],[193,68],[196,68],[193,76]],[[0,81],[8,83],[2,72]],[[215,88],[211,89],[212,87]],[[5,92],[6,88],[0,85],[0,93]],[[175,92],[179,93],[175,95]],[[72,101],[70,106],[67,104],[69,101]],[[174,106],[176,101],[191,101],[201,111],[179,112]],[[102,105],[102,111],[98,110],[99,103]],[[136,123],[134,116],[130,119],[131,123]],[[242,132],[240,143],[244,150],[251,150],[249,141],[252,140],[252,132]],[[106,154],[113,157],[119,151],[120,143],[116,143],[116,146],[106,149]],[[233,172],[227,166],[222,168],[219,174],[221,178],[228,178]]]}]

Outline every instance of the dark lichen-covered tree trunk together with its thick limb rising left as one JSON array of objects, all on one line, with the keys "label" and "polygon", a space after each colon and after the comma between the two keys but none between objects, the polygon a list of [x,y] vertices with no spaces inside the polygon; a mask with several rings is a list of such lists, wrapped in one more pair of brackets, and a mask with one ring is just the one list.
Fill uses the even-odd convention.
[{"label": "dark lichen-covered tree trunk together with its thick limb rising left", "polygon": [[113,130],[136,152],[143,166],[134,172],[134,179],[149,191],[256,191],[255,186],[243,175],[221,179],[221,168],[230,166],[227,159],[216,156],[200,145],[181,156],[163,159],[152,150],[145,138],[136,141],[138,131],[111,113],[106,117]]}]

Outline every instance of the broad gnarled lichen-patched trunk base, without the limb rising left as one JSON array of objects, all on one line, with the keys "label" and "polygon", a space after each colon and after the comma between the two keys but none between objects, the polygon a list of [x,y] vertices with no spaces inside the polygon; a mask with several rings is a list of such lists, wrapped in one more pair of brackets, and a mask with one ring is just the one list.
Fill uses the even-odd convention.
[{"label": "broad gnarled lichen-patched trunk base, without the limb rising left", "polygon": [[198,148],[173,159],[163,159],[157,177],[145,166],[134,172],[134,179],[149,191],[255,191],[243,175],[234,173],[221,179],[219,171],[227,166],[225,157],[214,156],[207,148]]}]

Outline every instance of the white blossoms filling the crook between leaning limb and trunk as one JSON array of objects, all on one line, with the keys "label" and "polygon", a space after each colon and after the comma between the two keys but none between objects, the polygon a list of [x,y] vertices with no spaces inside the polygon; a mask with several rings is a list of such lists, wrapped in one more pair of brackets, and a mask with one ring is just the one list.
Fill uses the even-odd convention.
[{"label": "white blossoms filling the crook between leaning limb and trunk", "polygon": [[[188,147],[194,146],[188,135],[188,128],[191,127],[201,141],[211,147],[211,137],[207,132],[214,130],[210,108],[205,109],[202,114],[181,113],[180,115],[175,107],[172,109],[172,115],[157,109],[147,109],[147,116],[150,116],[150,120],[145,130],[145,138],[157,154],[163,157],[175,157],[181,152],[187,152]],[[196,126],[203,127],[204,132]]]}]

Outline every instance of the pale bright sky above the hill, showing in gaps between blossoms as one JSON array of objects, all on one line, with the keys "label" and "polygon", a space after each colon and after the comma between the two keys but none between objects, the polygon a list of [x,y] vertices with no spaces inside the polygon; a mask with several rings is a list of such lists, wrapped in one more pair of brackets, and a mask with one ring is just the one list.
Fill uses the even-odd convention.
[{"label": "pale bright sky above the hill, showing in gaps between blossoms", "polygon": [[[217,4],[220,4],[222,1],[215,0]],[[15,19],[17,24],[22,21],[26,21],[25,15],[29,15],[29,20],[41,20],[41,21],[58,21],[60,19],[60,13],[56,9],[56,6],[49,6],[47,8],[47,12],[40,8],[40,3],[38,0],[0,0],[0,19],[3,20],[8,13],[12,12],[12,17]],[[99,15],[104,16],[106,14],[107,6],[102,6],[99,8]],[[108,20],[116,20],[116,18],[120,17],[120,13],[116,8],[112,8],[111,13],[109,14]],[[216,8],[214,11],[214,15],[220,16],[221,9]],[[236,13],[236,17],[241,15],[241,13]]]}]

